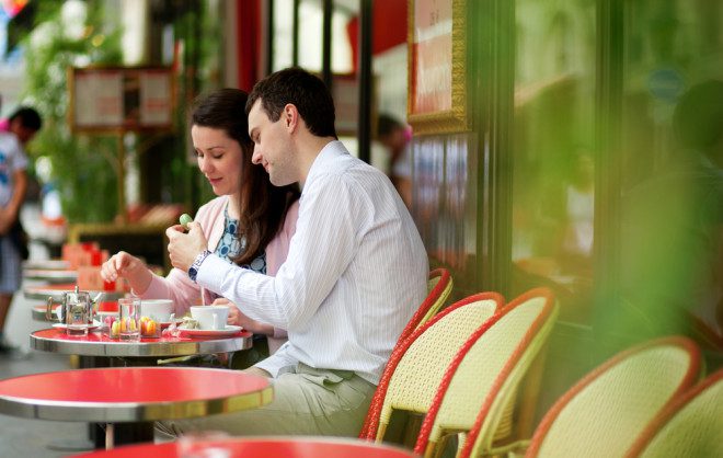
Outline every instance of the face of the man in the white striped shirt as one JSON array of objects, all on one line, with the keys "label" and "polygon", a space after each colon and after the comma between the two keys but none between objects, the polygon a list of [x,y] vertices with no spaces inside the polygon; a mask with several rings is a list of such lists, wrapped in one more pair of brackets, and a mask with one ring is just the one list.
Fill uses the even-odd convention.
[{"label": "face of the man in the white striped shirt", "polygon": [[299,181],[284,113],[274,123],[261,106],[261,99],[257,100],[249,112],[249,136],[254,144],[251,161],[263,165],[273,185],[285,186]]}]

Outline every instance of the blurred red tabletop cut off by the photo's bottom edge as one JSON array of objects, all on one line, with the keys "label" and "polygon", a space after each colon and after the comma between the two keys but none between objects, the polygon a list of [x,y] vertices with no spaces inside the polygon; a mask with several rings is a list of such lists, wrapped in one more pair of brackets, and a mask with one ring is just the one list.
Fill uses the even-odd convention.
[{"label": "blurred red tabletop cut off by the photo's bottom edge", "polygon": [[[413,458],[410,450],[356,439],[313,437],[238,438],[200,443],[219,449],[218,456],[228,458]],[[145,444],[113,450],[76,455],[83,458],[176,458],[179,443]],[[223,453],[220,453],[220,450]],[[211,456],[210,454],[208,456]],[[216,456],[216,455],[214,455]]]}]

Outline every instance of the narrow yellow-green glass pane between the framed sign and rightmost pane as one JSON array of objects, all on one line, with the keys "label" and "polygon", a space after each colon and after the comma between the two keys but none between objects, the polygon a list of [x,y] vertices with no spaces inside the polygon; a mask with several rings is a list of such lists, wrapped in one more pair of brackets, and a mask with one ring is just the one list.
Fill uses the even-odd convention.
[{"label": "narrow yellow-green glass pane between the framed sign and rightmost pane", "polygon": [[551,286],[586,322],[594,215],[595,2],[516,2],[513,290]]}]

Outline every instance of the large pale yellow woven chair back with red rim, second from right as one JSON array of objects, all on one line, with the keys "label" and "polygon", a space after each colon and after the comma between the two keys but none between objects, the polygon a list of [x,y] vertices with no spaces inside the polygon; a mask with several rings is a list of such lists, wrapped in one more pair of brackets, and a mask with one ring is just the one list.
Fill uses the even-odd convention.
[{"label": "large pale yellow woven chair back with red rim, second from right", "polygon": [[[651,420],[696,383],[700,371],[700,351],[689,339],[666,337],[622,352],[552,405],[525,456],[622,457]],[[473,434],[461,457],[484,455]]]}]

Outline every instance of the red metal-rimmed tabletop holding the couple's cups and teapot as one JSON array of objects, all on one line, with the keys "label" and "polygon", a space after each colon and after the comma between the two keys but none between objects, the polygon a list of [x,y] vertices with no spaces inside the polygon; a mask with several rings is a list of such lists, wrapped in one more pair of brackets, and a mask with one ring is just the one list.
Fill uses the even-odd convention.
[{"label": "red metal-rimmed tabletop holding the couple's cups and teapot", "polygon": [[227,353],[250,348],[253,334],[241,331],[229,336],[194,336],[141,339],[120,341],[89,332],[88,335],[68,335],[62,329],[44,329],[31,333],[31,346],[43,352],[81,356],[158,357]]}]

